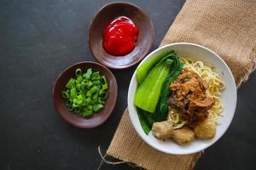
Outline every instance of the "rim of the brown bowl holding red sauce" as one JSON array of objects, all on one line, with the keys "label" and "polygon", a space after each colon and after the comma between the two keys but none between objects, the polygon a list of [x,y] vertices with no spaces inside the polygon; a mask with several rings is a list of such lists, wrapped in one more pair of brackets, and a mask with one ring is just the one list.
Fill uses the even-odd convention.
[{"label": "rim of the brown bowl holding red sauce", "polygon": [[[141,55],[141,57],[139,59],[137,59],[135,62],[132,62],[130,65],[123,65],[123,66],[113,66],[113,65],[105,65],[104,62],[102,62],[101,59],[98,59],[96,57],[96,54],[94,54],[93,50],[92,50],[92,45],[91,45],[91,42],[90,42],[90,32],[92,31],[92,25],[96,19],[96,17],[102,13],[102,11],[105,9],[105,8],[108,8],[112,5],[115,5],[115,4],[123,4],[123,5],[129,5],[133,8],[137,8],[142,14],[144,14],[146,16],[146,18],[148,18],[149,20],[149,24],[151,26],[151,30],[152,30],[152,33],[150,35],[150,42],[149,42],[149,45],[148,45],[148,48],[146,48],[145,50],[145,53]],[[88,27],[88,32],[89,32],[89,36],[87,38],[87,42],[89,44],[89,49],[90,49],[90,54],[92,54],[92,56],[96,59],[97,62],[101,63],[102,65],[105,65],[106,67],[110,68],[110,69],[114,69],[114,70],[123,70],[123,69],[126,69],[126,68],[130,68],[131,66],[133,65],[136,65],[137,63],[139,63],[142,59],[144,59],[147,55],[148,55],[148,52],[150,51],[150,49],[152,48],[153,46],[153,43],[154,43],[154,25],[153,25],[153,22],[152,20],[150,19],[149,15],[143,10],[143,8],[140,8],[138,7],[136,4],[134,3],[128,3],[128,2],[113,2],[113,3],[107,3],[105,4],[104,6],[102,6],[102,8],[99,8],[97,11],[96,11],[96,14],[94,14],[90,20],[90,24],[89,24],[89,27]]]}]

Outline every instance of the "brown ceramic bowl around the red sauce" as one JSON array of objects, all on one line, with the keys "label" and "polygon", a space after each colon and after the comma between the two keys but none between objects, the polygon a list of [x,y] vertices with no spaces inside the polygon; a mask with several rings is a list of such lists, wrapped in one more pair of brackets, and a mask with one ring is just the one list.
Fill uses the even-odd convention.
[{"label": "brown ceramic bowl around the red sauce", "polygon": [[[113,56],[102,48],[102,33],[116,17],[126,16],[139,28],[137,46],[130,54]],[[154,27],[148,14],[132,3],[108,3],[100,8],[90,23],[89,47],[97,61],[113,69],[125,69],[137,64],[149,52],[154,41]]]}]

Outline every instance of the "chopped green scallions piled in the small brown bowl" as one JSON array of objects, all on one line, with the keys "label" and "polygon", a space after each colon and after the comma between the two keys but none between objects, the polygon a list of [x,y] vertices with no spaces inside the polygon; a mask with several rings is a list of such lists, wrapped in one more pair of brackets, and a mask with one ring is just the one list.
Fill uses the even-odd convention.
[{"label": "chopped green scallions piled in the small brown bowl", "polygon": [[75,71],[75,77],[70,78],[61,92],[66,99],[68,111],[74,111],[81,116],[91,116],[104,108],[108,98],[108,81],[101,76],[99,71],[87,69],[83,74],[82,69]]}]

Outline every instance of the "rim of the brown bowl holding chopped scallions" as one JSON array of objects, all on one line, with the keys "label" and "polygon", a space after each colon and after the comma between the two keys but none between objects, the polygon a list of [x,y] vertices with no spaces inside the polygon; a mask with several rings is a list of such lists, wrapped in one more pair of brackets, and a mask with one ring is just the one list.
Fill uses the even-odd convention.
[{"label": "rim of the brown bowl holding chopped scallions", "polygon": [[[76,65],[80,65],[80,64],[92,64],[92,65],[98,65],[99,67],[102,67],[104,70],[108,71],[108,73],[111,75],[111,77],[113,77],[113,83],[115,84],[116,86],[116,93],[114,94],[114,98],[113,98],[113,106],[110,107],[109,111],[108,111],[108,114],[106,114],[106,116],[104,116],[104,119],[102,119],[102,122],[99,122],[99,123],[95,123],[94,125],[91,125],[91,126],[88,126],[88,125],[79,125],[79,124],[76,124],[76,123],[73,123],[71,122],[67,117],[63,116],[65,115],[66,113],[62,113],[60,112],[58,109],[57,109],[57,104],[56,104],[56,100],[55,100],[55,87],[56,87],[56,84],[57,82],[59,82],[61,76],[66,73],[69,69],[71,69],[72,67],[76,66]],[[59,76],[55,79],[55,83],[54,83],[54,87],[52,88],[52,100],[53,100],[53,103],[54,103],[54,107],[55,107],[55,111],[58,113],[59,116],[61,116],[61,118],[67,122],[68,124],[72,125],[73,127],[79,127],[79,128],[94,128],[94,127],[99,127],[100,125],[102,125],[104,122],[106,122],[108,120],[108,117],[113,113],[113,110],[115,108],[115,105],[116,105],[116,101],[117,101],[117,97],[118,97],[118,83],[116,81],[116,78],[114,77],[113,75],[113,72],[110,71],[108,69],[108,67],[100,64],[100,63],[96,63],[94,61],[80,61],[80,62],[77,62],[77,63],[74,63],[73,65],[70,65],[68,66],[66,69],[64,69],[63,71],[61,71],[61,73],[59,74]],[[81,116],[81,119],[84,119],[84,117]],[[90,118],[88,119],[90,120]]]}]

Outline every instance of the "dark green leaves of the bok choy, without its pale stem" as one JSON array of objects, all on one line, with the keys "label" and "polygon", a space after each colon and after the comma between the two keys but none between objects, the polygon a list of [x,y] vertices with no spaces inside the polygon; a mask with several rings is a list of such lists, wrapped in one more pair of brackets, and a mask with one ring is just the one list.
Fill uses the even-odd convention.
[{"label": "dark green leaves of the bok choy, without its pale stem", "polygon": [[[161,83],[161,86],[157,88],[158,90],[160,88],[160,96],[159,96],[159,98],[152,99],[153,100],[153,104],[155,102],[157,103],[157,105],[155,107],[155,110],[154,110],[154,113],[148,112],[147,110],[144,110],[144,109],[141,109],[141,108],[137,107],[137,114],[138,114],[141,126],[143,127],[143,131],[145,133],[147,133],[147,134],[150,132],[154,122],[161,122],[161,121],[165,121],[166,120],[166,117],[168,115],[168,104],[167,104],[167,101],[168,101],[169,97],[171,96],[171,91],[170,91],[169,86],[170,86],[170,84],[172,82],[174,82],[177,79],[178,75],[183,70],[183,63],[178,58],[178,56],[177,56],[175,51],[172,50],[168,54],[165,53],[165,55],[162,54],[160,56],[162,57],[162,59],[159,59],[158,62],[156,61],[157,63],[152,65],[152,68],[149,68],[150,70],[148,71],[148,75],[143,79],[143,82],[141,82],[141,84],[137,88],[137,93],[138,93],[139,92],[138,89],[143,85],[143,83],[145,81],[147,81],[149,75],[152,74],[151,71],[154,71],[155,70],[154,67],[159,65],[160,62],[163,59],[166,59],[166,62],[170,62],[171,63],[171,68],[168,71],[168,74],[165,77],[165,80]],[[160,75],[159,75],[159,77],[160,77]],[[144,88],[150,89],[152,86],[153,86],[153,83],[152,84],[148,84],[148,86],[144,87]],[[147,91],[147,90],[144,90],[144,91]],[[140,95],[143,96],[143,94],[140,94]],[[147,96],[146,99],[145,99],[145,96]],[[148,94],[144,94],[143,99],[144,100],[149,100]],[[148,102],[150,103],[152,100],[150,100]],[[136,105],[136,103],[135,103],[135,105]]]}]

